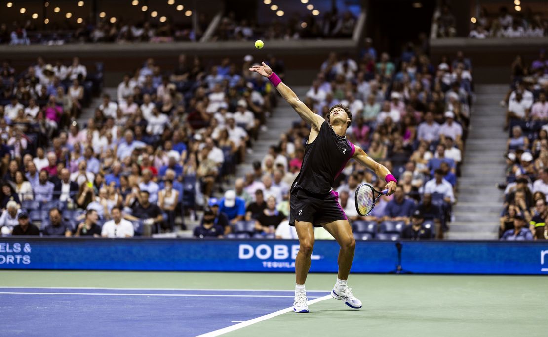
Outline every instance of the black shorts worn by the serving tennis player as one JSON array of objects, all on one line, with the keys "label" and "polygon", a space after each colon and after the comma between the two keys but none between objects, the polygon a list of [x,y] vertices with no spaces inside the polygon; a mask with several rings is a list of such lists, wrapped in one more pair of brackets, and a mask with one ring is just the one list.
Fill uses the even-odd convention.
[{"label": "black shorts worn by the serving tennis player", "polygon": [[302,189],[295,189],[289,196],[289,226],[295,226],[295,220],[312,222],[314,227],[335,220],[348,220],[339,204],[339,195],[317,195]]}]

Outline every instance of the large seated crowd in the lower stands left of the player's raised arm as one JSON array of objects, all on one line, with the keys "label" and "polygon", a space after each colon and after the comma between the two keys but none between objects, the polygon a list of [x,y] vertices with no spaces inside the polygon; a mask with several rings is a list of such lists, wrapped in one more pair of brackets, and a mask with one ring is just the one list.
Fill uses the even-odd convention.
[{"label": "large seated crowd in the lower stands left of the player's raised arm", "polygon": [[268,81],[241,64],[206,68],[181,54],[169,70],[147,59],[81,124],[79,81],[93,75],[77,58],[68,67],[38,58],[22,73],[4,62],[1,74],[4,234],[24,223],[42,235],[173,231],[251,151],[276,102]]}]

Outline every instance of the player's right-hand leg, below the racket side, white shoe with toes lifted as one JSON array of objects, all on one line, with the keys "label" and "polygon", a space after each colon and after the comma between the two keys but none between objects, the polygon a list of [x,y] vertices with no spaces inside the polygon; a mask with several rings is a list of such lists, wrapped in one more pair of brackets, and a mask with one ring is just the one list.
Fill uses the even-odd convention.
[{"label": "player's right-hand leg, below the racket side, white shoe with toes lifted", "polygon": [[342,300],[352,309],[360,309],[362,302],[354,296],[352,289],[347,286],[348,275],[354,259],[356,240],[348,220],[335,220],[322,224],[340,245],[339,250],[339,275],[331,295],[333,298]]}]

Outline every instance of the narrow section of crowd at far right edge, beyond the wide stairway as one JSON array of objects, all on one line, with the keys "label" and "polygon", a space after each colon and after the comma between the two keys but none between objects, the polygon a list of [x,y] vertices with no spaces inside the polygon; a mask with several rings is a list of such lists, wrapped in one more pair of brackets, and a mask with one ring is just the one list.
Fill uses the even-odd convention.
[{"label": "narrow section of crowd at far right edge, beyond the wide stairway", "polygon": [[548,60],[541,50],[530,65],[518,56],[512,64],[506,108],[506,181],[499,237],[548,239]]}]

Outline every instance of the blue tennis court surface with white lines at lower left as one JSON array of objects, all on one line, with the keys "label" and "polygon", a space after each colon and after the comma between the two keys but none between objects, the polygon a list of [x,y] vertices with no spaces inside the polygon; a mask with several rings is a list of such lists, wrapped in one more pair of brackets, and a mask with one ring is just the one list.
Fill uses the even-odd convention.
[{"label": "blue tennis court surface with white lines at lower left", "polygon": [[[325,295],[309,292],[309,299]],[[0,312],[15,314],[4,319],[0,335],[196,336],[287,312],[293,296],[293,290],[0,288]]]}]

